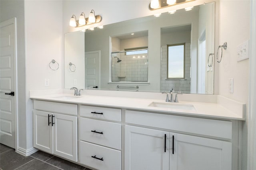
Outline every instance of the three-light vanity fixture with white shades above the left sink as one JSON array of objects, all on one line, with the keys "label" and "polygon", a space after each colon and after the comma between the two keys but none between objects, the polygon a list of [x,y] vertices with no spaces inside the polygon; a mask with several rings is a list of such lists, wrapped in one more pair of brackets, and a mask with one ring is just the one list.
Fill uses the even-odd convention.
[{"label": "three-light vanity fixture with white shades above the left sink", "polygon": [[[88,18],[85,18],[85,14],[84,12],[82,12],[78,21],[76,20],[76,16],[72,15],[69,21],[69,25],[71,27],[82,27],[84,25],[99,23],[101,21],[102,21],[102,17],[100,15],[95,16],[95,12],[94,10],[92,10]],[[101,27],[103,28],[103,26]]]}]

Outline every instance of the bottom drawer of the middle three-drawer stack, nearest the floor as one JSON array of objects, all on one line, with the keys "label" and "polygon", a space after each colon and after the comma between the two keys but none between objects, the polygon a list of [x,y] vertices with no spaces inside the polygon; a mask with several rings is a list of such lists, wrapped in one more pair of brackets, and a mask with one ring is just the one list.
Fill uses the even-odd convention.
[{"label": "bottom drawer of the middle three-drawer stack, nearest the floor", "polygon": [[80,141],[80,163],[99,170],[120,170],[121,151]]}]

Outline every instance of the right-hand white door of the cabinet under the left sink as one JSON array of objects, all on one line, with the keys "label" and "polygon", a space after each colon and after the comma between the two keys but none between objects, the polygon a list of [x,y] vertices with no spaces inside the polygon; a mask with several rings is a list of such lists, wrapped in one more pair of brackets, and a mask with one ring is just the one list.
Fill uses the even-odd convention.
[{"label": "right-hand white door of the cabinet under the left sink", "polygon": [[56,113],[53,116],[53,153],[76,162],[78,157],[77,117]]}]

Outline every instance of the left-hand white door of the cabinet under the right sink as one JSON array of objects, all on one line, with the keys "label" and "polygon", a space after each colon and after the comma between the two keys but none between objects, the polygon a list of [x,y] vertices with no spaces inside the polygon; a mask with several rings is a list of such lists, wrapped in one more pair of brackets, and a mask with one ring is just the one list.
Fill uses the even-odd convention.
[{"label": "left-hand white door of the cabinet under the right sink", "polygon": [[126,125],[125,170],[168,169],[169,132]]}]

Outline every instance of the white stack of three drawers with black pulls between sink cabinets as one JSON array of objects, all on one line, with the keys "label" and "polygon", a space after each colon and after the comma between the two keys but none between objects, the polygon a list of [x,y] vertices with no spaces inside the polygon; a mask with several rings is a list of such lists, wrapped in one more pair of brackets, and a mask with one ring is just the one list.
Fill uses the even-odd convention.
[{"label": "white stack of three drawers with black pulls between sink cabinets", "polygon": [[80,163],[121,170],[121,109],[80,106]]}]

